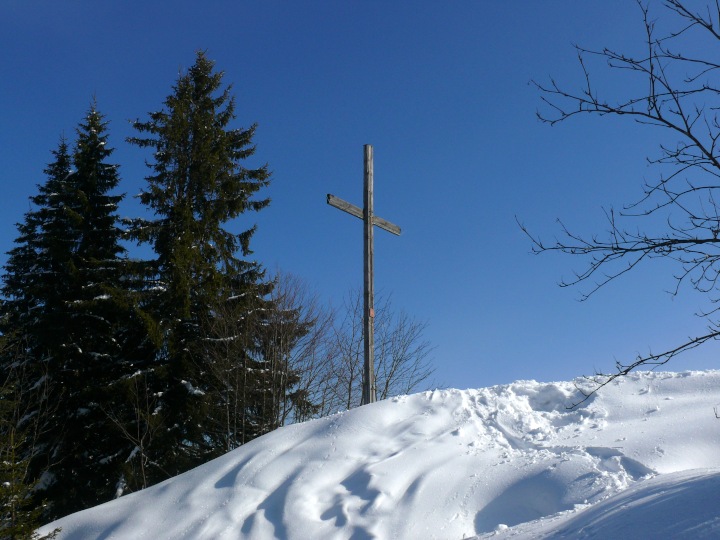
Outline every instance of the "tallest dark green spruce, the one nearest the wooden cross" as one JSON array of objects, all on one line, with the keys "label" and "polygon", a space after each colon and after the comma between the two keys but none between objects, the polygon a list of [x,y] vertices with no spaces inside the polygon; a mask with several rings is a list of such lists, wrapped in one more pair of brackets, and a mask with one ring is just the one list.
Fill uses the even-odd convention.
[{"label": "tallest dark green spruce, the one nearest the wooden cross", "polygon": [[[154,151],[152,173],[140,195],[154,216],[134,222],[134,237],[157,255],[157,294],[149,301],[165,340],[153,371],[153,395],[161,395],[158,407],[168,429],[156,439],[153,460],[165,474],[216,457],[235,445],[230,439],[247,441],[270,428],[263,420],[261,397],[268,381],[262,375],[257,324],[271,285],[257,262],[240,258],[252,253],[254,227],[229,230],[231,220],[268,205],[269,199],[254,196],[268,185],[270,174],[266,165],[244,165],[255,152],[256,126],[231,127],[235,101],[222,78],[198,53],[164,109],[137,121],[139,136],[130,139]],[[237,323],[230,336],[215,330],[220,313]],[[218,343],[228,341],[237,347],[233,365],[225,369],[219,367],[217,350]],[[243,381],[241,388],[212,373],[234,373]],[[233,422],[225,414],[231,398],[238,411]],[[243,433],[229,427],[240,425],[238,415]]]}]

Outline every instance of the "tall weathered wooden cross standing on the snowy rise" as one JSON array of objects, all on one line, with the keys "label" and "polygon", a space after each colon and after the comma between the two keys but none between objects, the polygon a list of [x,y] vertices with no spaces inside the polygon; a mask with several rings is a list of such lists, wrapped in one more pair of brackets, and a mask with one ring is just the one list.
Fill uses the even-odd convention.
[{"label": "tall weathered wooden cross standing on the snowy rise", "polygon": [[400,235],[400,227],[382,218],[373,215],[373,159],[372,146],[366,144],[365,149],[365,197],[364,208],[358,208],[354,204],[328,193],[327,202],[330,206],[339,208],[343,212],[358,217],[365,222],[364,227],[364,257],[365,267],[364,279],[364,315],[363,333],[365,341],[365,366],[363,370],[363,395],[361,405],[374,403],[377,399],[377,388],[375,386],[375,309],[373,290],[373,226],[377,225],[396,235]]}]

